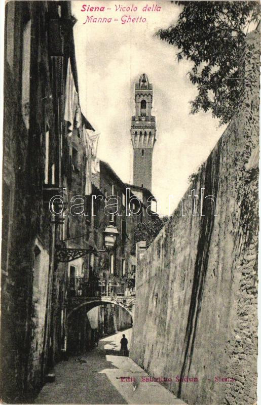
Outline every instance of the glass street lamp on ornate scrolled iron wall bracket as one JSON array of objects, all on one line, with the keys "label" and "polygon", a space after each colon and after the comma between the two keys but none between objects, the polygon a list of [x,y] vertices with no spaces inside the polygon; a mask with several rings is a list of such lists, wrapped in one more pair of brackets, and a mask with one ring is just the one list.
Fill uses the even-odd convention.
[{"label": "glass street lamp on ornate scrolled iron wall bracket", "polygon": [[80,257],[89,255],[90,253],[93,253],[95,256],[99,256],[99,252],[109,252],[114,248],[118,234],[119,232],[114,226],[113,222],[109,223],[109,225],[103,231],[103,244],[105,250],[95,249],[92,246],[90,246],[89,249],[66,248],[66,245],[63,241],[62,246],[57,245],[55,248],[56,259],[58,262],[67,263],[72,260],[79,259]]}]

